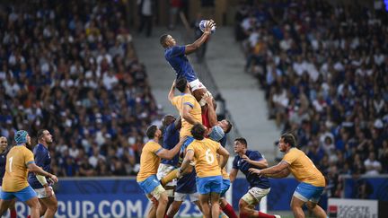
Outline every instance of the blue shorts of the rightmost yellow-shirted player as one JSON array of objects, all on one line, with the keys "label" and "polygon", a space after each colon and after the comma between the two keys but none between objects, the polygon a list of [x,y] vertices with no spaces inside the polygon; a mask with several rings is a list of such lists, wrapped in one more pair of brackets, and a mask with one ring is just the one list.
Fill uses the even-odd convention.
[{"label": "blue shorts of the rightmost yellow-shirted player", "polygon": [[322,196],[323,189],[324,187],[315,187],[302,182],[296,187],[294,196],[304,202],[311,201],[313,203],[318,203]]}]

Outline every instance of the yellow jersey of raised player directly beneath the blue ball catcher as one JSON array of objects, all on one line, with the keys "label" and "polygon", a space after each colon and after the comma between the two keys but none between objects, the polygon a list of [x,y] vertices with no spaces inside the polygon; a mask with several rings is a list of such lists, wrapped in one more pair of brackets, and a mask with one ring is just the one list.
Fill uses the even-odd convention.
[{"label": "yellow jersey of raised player directly beneath the blue ball catcher", "polygon": [[190,94],[181,94],[178,96],[175,96],[172,98],[172,105],[175,106],[176,109],[179,110],[180,115],[181,115],[181,132],[180,132],[180,137],[184,136],[191,136],[191,128],[192,124],[190,124],[188,121],[186,121],[182,117],[182,112],[183,112],[183,106],[184,105],[189,105],[191,107],[190,110],[190,115],[198,122],[202,123],[202,116],[201,116],[201,108],[198,103],[198,101],[194,98],[194,96]]}]

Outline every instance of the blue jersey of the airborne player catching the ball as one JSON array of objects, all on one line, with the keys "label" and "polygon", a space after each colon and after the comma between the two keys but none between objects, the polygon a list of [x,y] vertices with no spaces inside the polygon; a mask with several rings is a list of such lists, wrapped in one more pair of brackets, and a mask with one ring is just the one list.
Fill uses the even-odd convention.
[{"label": "blue jersey of the airborne player catching the ball", "polygon": [[189,83],[197,79],[197,75],[185,55],[184,46],[166,48],[164,57],[175,70],[176,78],[184,77]]}]

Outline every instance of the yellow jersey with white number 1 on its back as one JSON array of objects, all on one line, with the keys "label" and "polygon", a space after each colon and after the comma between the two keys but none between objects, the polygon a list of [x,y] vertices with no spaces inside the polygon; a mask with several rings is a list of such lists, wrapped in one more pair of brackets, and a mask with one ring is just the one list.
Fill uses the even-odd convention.
[{"label": "yellow jersey with white number 1 on its back", "polygon": [[29,186],[27,165],[34,162],[33,153],[24,145],[14,146],[6,156],[2,189],[17,192]]}]

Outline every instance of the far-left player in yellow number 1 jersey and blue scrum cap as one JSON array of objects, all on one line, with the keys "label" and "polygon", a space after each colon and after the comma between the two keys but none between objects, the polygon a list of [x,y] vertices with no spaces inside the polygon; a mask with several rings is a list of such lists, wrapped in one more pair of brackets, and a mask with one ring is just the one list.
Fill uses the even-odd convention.
[{"label": "far-left player in yellow number 1 jersey and blue scrum cap", "polygon": [[33,154],[26,147],[31,144],[31,137],[24,130],[14,135],[16,146],[7,154],[3,187],[0,193],[0,215],[18,198],[31,208],[31,218],[40,217],[40,202],[37,194],[27,182],[28,171],[39,174],[57,182],[57,177],[42,170],[35,164]]}]

